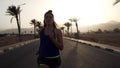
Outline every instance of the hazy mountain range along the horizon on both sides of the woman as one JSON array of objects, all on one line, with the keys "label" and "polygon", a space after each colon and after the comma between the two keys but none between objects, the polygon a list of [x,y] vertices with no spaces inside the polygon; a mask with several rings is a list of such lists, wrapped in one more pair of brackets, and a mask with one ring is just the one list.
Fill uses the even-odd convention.
[{"label": "hazy mountain range along the horizon on both sides of the woman", "polygon": [[[117,21],[114,21],[114,20],[111,20],[111,21],[108,21],[106,23],[101,23],[101,24],[96,24],[96,25],[91,25],[89,26],[84,26],[84,27],[79,27],[79,30],[80,32],[88,32],[89,31],[97,31],[98,29],[101,29],[101,30],[113,30],[115,28],[119,28],[120,29],[120,22],[117,22]],[[25,33],[26,34],[30,34],[32,31],[33,33],[33,28],[22,28],[22,33]],[[76,28],[73,29],[73,31],[76,31]],[[4,34],[4,33],[18,33],[18,30],[17,29],[7,29],[7,30],[4,30],[4,31],[0,31],[0,34]]]}]

